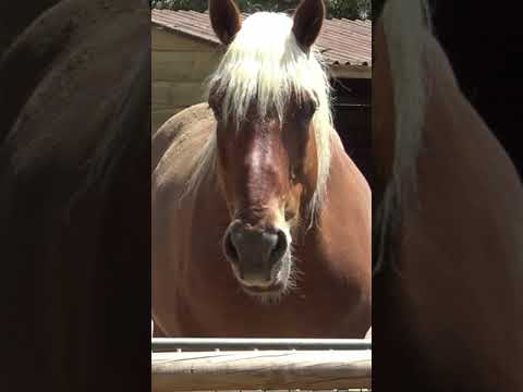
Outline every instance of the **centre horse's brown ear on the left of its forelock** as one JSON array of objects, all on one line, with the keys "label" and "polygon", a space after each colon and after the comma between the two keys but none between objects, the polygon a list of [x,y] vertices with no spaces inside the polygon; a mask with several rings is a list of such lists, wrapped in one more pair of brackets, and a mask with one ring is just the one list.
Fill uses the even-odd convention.
[{"label": "centre horse's brown ear on the left of its forelock", "polygon": [[240,10],[233,0],[209,0],[210,24],[224,45],[231,44],[242,27]]}]

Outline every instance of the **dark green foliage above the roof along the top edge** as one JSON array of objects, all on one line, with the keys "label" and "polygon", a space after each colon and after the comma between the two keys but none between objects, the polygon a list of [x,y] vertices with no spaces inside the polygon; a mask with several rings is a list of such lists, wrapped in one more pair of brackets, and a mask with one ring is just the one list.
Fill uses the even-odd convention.
[{"label": "dark green foliage above the roof along the top edge", "polygon": [[[158,10],[207,10],[208,0],[149,0],[150,7]],[[236,0],[242,12],[293,11],[299,0]],[[370,0],[326,0],[327,17],[369,19]]]}]

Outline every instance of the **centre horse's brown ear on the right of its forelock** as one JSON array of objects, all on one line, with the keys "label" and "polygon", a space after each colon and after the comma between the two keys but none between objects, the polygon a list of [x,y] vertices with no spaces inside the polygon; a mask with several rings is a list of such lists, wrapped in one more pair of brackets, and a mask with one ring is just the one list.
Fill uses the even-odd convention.
[{"label": "centre horse's brown ear on the right of its forelock", "polygon": [[325,19],[325,3],[323,0],[303,0],[294,13],[292,32],[297,44],[308,50],[318,38]]}]

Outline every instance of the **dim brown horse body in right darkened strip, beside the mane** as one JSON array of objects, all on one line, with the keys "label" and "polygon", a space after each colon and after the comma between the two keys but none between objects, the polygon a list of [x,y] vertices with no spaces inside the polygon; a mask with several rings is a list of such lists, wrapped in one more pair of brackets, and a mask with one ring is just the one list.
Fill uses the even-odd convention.
[{"label": "dim brown horse body in right darkened strip, beside the mane", "polygon": [[[416,315],[406,320],[427,368],[440,368],[448,347],[424,336],[434,342],[451,336],[466,372],[485,375],[487,359],[502,360],[504,354],[490,347],[518,347],[514,355],[521,358],[523,192],[503,148],[455,84],[439,45],[429,44],[428,50],[434,50],[427,61],[430,96],[416,203],[403,205],[396,244],[409,293],[401,306]],[[471,346],[474,358],[464,354]],[[499,378],[515,373],[512,366]]]}]

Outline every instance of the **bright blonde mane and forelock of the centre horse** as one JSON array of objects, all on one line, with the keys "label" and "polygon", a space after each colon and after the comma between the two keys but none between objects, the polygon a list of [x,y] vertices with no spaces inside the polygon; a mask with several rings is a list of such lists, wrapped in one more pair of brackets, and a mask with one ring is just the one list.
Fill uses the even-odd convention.
[{"label": "bright blonde mane and forelock of the centre horse", "polygon": [[[280,123],[291,97],[315,99],[313,128],[318,151],[318,177],[309,212],[313,217],[325,195],[331,157],[332,114],[330,84],[319,51],[305,53],[292,33],[293,20],[283,13],[258,12],[242,24],[217,70],[210,75],[207,96],[223,95],[222,118],[231,126],[241,124],[256,102],[258,114],[275,110]],[[235,125],[234,125],[235,124]],[[197,158],[187,192],[216,169],[216,132],[211,132]]]}]

